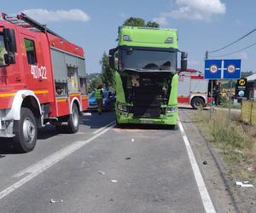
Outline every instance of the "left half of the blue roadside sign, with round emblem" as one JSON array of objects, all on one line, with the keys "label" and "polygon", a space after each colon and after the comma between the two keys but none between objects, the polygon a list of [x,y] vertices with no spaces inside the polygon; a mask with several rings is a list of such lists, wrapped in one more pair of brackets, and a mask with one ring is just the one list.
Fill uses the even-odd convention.
[{"label": "left half of the blue roadside sign, with round emblem", "polygon": [[205,78],[206,79],[221,78],[221,62],[222,60],[206,60],[205,62]]}]

